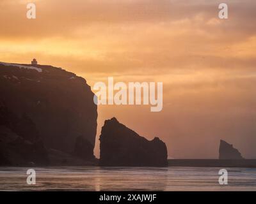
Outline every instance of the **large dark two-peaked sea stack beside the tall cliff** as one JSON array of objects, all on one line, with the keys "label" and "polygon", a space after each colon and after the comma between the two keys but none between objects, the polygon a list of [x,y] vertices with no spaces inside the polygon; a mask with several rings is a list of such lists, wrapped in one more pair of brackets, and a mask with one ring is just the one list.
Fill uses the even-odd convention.
[{"label": "large dark two-peaked sea stack beside the tall cliff", "polygon": [[148,141],[115,118],[106,120],[100,135],[100,165],[166,166],[166,145],[159,138]]}]

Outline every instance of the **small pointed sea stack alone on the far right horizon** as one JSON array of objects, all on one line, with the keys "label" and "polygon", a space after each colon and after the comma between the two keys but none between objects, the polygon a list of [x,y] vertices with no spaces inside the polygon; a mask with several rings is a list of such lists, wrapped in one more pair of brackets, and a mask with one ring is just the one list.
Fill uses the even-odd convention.
[{"label": "small pointed sea stack alone on the far right horizon", "polygon": [[233,145],[220,140],[219,159],[244,159],[239,150],[235,149]]}]

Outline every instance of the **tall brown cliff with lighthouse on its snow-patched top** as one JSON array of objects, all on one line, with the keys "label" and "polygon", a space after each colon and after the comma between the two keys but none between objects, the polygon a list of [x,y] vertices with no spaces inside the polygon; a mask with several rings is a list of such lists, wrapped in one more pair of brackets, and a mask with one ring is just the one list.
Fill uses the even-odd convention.
[{"label": "tall brown cliff with lighthouse on its snow-patched top", "polygon": [[[84,78],[52,66],[0,62],[0,93],[0,104],[23,127],[2,127],[0,138],[7,127],[26,141],[40,137],[47,149],[94,158],[97,106]],[[33,126],[25,130],[24,123]]]}]

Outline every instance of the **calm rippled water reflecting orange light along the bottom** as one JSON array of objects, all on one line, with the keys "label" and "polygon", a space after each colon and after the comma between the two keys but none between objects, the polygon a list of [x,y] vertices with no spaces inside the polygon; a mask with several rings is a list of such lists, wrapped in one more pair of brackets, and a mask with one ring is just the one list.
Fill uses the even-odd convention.
[{"label": "calm rippled water reflecting orange light along the bottom", "polygon": [[256,168],[227,168],[227,186],[218,184],[220,168],[35,168],[34,186],[26,184],[27,170],[0,168],[0,190],[256,191]]}]

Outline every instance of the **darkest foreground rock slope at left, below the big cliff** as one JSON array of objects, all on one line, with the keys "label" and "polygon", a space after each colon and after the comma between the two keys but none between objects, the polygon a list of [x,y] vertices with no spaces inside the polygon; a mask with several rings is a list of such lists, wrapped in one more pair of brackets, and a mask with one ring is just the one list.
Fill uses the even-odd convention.
[{"label": "darkest foreground rock slope at left, below the big cliff", "polygon": [[0,165],[48,164],[47,150],[28,116],[0,106]]}]

